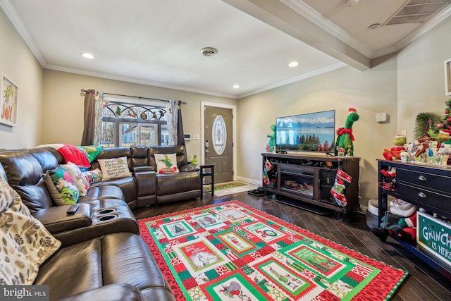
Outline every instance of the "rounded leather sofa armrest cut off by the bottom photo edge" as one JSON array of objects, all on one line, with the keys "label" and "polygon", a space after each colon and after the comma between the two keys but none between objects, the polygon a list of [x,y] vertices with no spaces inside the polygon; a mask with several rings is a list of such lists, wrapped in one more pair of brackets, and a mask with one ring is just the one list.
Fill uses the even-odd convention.
[{"label": "rounded leather sofa armrest cut off by the bottom photo edge", "polygon": [[86,290],[70,297],[60,299],[60,301],[85,301],[85,300],[106,300],[109,301],[141,301],[144,300],[141,291],[135,286],[126,283],[113,283]]}]

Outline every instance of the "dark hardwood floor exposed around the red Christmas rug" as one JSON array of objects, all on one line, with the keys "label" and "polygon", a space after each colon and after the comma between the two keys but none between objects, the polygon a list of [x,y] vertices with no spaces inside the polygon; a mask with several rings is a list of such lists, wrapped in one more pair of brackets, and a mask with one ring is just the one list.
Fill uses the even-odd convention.
[{"label": "dark hardwood floor exposed around the red Christmas rug", "polygon": [[198,198],[187,202],[137,209],[134,213],[137,219],[144,219],[209,204],[218,204],[232,199],[237,199],[370,257],[409,271],[407,281],[404,281],[391,300],[451,300],[451,281],[405,250],[392,238],[388,238],[386,243],[380,242],[368,230],[364,214],[357,213],[350,221],[337,221],[331,216],[321,216],[280,204],[265,196],[254,197],[247,192],[214,198],[205,194],[204,199]]}]

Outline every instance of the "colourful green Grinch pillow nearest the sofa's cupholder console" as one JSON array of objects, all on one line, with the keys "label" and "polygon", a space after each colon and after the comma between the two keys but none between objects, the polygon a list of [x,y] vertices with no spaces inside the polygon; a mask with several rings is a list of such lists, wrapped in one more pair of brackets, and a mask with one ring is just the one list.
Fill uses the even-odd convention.
[{"label": "colourful green Grinch pillow nearest the sofa's cupholder console", "polygon": [[75,184],[75,180],[65,168],[58,166],[51,171],[47,171],[44,181],[51,198],[58,206],[78,202],[80,191]]}]

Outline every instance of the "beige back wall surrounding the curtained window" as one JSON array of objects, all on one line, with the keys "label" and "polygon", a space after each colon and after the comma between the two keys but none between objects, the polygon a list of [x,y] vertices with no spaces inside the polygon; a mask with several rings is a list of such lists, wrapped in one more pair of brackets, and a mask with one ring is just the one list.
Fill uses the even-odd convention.
[{"label": "beige back wall surrounding the curtained window", "polygon": [[[43,136],[39,144],[69,143],[80,145],[83,133],[83,97],[80,90],[94,89],[156,99],[178,99],[183,104],[183,130],[192,135],[201,133],[201,102],[236,105],[236,99],[172,90],[148,85],[107,80],[55,70],[44,70]],[[200,140],[186,142],[188,159],[197,154],[201,159]]]}]

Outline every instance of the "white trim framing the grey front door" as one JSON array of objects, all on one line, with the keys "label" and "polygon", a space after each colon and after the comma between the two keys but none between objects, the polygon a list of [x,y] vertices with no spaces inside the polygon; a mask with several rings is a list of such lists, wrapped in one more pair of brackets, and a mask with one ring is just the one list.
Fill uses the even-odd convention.
[{"label": "white trim framing the grey front door", "polygon": [[237,106],[231,105],[231,104],[217,104],[215,102],[201,102],[200,103],[200,139],[201,139],[201,162],[202,164],[205,164],[205,118],[204,118],[204,110],[205,106],[214,106],[216,108],[225,108],[225,109],[232,109],[232,154],[233,154],[233,180],[237,180]]}]

